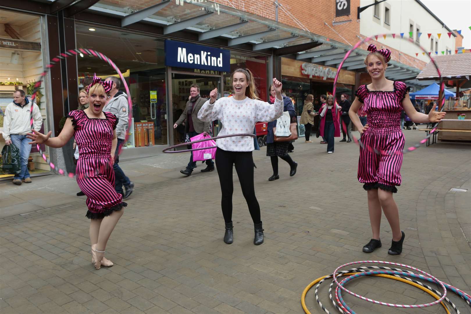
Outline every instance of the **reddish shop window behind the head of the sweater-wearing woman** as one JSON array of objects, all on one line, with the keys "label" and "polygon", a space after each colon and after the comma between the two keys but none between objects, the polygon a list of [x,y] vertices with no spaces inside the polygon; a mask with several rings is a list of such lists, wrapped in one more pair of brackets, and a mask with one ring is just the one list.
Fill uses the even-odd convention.
[{"label": "reddish shop window behind the head of the sweater-wearing woman", "polygon": [[268,82],[267,57],[238,51],[231,51],[231,72],[224,72],[224,90],[221,97],[227,97],[233,93],[231,73],[238,68],[249,69],[252,72],[259,98],[268,101],[270,82]]}]

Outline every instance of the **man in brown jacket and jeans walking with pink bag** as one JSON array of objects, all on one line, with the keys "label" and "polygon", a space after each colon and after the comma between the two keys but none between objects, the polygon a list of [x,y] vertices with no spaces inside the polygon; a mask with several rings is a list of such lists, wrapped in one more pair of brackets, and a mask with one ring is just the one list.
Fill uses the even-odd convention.
[{"label": "man in brown jacket and jeans walking with pink bag", "polygon": [[[210,133],[210,124],[209,122],[203,122],[198,119],[198,112],[201,107],[208,99],[200,96],[200,87],[197,84],[193,84],[190,87],[190,97],[185,106],[185,110],[180,115],[180,118],[173,125],[173,129],[177,129],[184,121],[185,123],[185,138],[189,142],[191,137],[195,137],[201,133],[204,136],[209,135]],[[187,168],[185,170],[180,170],[182,174],[189,177],[193,172],[193,169],[196,168],[196,161],[193,161],[193,152],[190,154],[190,161],[188,162]],[[214,170],[214,162],[211,159],[206,160],[206,168],[202,169],[201,172],[209,172]]]}]

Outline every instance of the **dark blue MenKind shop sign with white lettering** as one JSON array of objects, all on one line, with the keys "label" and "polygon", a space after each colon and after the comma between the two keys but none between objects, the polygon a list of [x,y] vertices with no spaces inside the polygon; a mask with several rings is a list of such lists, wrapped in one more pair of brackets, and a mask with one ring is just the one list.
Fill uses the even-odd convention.
[{"label": "dark blue MenKind shop sign with white lettering", "polygon": [[165,40],[165,65],[230,72],[230,52],[226,49]]}]

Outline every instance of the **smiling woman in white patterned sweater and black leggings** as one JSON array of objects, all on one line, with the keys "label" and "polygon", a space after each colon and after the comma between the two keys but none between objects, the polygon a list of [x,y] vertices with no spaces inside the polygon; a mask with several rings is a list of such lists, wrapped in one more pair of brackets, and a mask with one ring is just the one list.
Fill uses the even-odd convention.
[{"label": "smiling woman in white patterned sweater and black leggings", "polygon": [[[219,136],[239,133],[252,133],[258,121],[274,121],[283,114],[282,84],[273,79],[276,91],[275,105],[261,101],[255,90],[252,72],[246,69],[237,69],[231,75],[233,97],[222,97],[216,100],[218,89],[210,93],[210,100],[204,103],[198,113],[198,119],[204,122],[219,120],[222,129]],[[216,141],[216,167],[218,169],[219,183],[221,185],[221,208],[226,232],[224,242],[230,244],[234,241],[232,225],[232,167],[239,177],[239,182],[245,201],[252,216],[255,237],[253,244],[263,243],[263,228],[260,220],[260,205],[255,196],[253,184],[252,137],[226,137]]]}]

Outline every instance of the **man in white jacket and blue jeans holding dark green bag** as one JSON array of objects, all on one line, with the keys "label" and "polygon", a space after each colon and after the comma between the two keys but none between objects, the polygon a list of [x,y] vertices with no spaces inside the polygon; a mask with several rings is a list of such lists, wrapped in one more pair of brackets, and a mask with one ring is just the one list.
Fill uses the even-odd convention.
[{"label": "man in white jacket and blue jeans holding dark green bag", "polygon": [[33,101],[30,101],[24,94],[23,89],[13,92],[13,101],[5,108],[3,117],[2,136],[5,145],[15,145],[20,151],[20,173],[13,177],[13,184],[21,185],[31,183],[31,176],[28,171],[28,159],[31,153],[31,139],[26,137],[31,132],[31,111],[33,118],[32,128],[39,131],[42,126],[41,111]]}]

